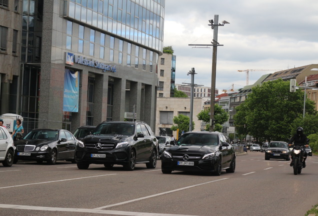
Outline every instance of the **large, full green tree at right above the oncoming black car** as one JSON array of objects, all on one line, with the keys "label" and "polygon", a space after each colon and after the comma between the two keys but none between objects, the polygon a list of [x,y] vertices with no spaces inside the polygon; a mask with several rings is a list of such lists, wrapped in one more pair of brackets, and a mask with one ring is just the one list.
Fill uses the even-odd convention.
[{"label": "large, full green tree at right above the oncoming black car", "polygon": [[[289,81],[276,79],[252,88],[235,114],[235,125],[245,125],[248,134],[258,140],[287,140],[291,124],[302,116],[303,94],[300,89],[289,92]],[[307,114],[315,114],[313,102],[306,100]]]}]

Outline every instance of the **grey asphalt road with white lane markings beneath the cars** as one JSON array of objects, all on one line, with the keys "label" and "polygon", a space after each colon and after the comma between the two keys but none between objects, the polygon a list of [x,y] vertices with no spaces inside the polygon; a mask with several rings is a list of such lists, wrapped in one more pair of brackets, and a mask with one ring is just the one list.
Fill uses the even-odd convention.
[{"label": "grey asphalt road with white lane markings beneath the cars", "polygon": [[289,161],[264,160],[264,153],[236,157],[234,173],[220,176],[137,164],[105,169],[91,164],[18,162],[0,166],[0,215],[288,215],[318,203],[318,156],[301,174]]}]

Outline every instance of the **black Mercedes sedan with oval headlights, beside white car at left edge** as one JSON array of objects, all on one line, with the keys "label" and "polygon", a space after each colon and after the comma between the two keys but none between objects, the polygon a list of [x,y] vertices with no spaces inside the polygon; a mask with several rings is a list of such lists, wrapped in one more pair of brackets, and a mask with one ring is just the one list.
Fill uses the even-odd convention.
[{"label": "black Mercedes sedan with oval headlights, beside white car at left edge", "polygon": [[75,162],[75,147],[78,142],[78,139],[65,129],[33,129],[23,139],[14,141],[14,162],[35,160],[38,163],[46,161],[51,165],[55,164],[56,160]]}]

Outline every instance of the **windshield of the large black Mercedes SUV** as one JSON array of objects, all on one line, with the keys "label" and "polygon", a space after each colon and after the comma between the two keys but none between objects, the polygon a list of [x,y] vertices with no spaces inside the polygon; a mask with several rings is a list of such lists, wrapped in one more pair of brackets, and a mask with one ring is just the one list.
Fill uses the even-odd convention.
[{"label": "windshield of the large black Mercedes SUV", "polygon": [[134,124],[131,123],[102,123],[99,124],[94,130],[93,134],[121,134],[121,135],[133,135]]}]

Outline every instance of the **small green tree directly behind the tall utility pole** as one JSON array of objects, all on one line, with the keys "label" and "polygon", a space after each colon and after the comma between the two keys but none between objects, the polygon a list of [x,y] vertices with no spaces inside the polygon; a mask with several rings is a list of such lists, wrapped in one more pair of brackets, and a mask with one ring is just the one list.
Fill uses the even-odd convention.
[{"label": "small green tree directly behind the tall utility pole", "polygon": [[[197,119],[204,121],[205,123],[210,122],[210,107],[206,110],[201,110],[197,115]],[[215,119],[215,125],[214,125],[214,131],[220,131],[219,126],[216,127],[217,124],[221,126],[222,123],[226,122],[228,120],[228,113],[222,109],[222,106],[218,104],[214,104],[214,119]],[[222,126],[221,126],[222,127]],[[207,129],[209,130],[209,126],[207,125]]]}]

